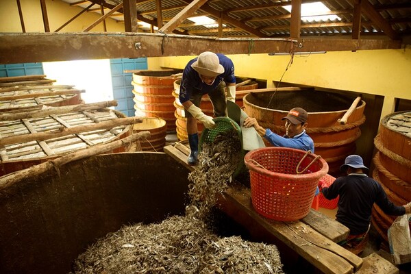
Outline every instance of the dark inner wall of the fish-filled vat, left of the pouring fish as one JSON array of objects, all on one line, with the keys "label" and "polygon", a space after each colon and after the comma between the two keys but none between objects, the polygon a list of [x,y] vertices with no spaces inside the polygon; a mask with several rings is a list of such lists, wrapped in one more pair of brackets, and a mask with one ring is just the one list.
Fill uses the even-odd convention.
[{"label": "dark inner wall of the fish-filled vat, left of the pouring fish", "polygon": [[108,232],[184,213],[187,177],[164,153],[114,153],[0,184],[0,273],[69,273]]}]

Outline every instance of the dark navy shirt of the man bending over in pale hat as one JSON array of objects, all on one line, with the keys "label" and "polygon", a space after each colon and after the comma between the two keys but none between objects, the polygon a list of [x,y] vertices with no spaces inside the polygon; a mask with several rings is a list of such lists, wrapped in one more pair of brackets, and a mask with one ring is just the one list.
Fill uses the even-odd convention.
[{"label": "dark navy shirt of the man bending over in pale hat", "polygon": [[197,58],[192,59],[187,63],[183,71],[179,90],[179,101],[181,103],[190,100],[192,92],[201,92],[202,95],[206,95],[208,92],[215,90],[221,81],[224,81],[227,84],[236,82],[232,60],[221,53],[216,53],[216,55],[219,57],[221,66],[224,67],[224,73],[218,75],[211,85],[204,84],[203,81],[201,81],[199,73],[197,73],[195,69],[192,69],[191,64],[197,61]]}]

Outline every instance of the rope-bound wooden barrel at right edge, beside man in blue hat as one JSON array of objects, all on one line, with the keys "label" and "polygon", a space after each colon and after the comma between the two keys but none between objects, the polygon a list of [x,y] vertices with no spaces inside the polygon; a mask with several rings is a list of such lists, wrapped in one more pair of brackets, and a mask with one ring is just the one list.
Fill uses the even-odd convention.
[{"label": "rope-bound wooden barrel at right edge, beside man in blue hat", "polygon": [[[397,206],[411,201],[411,112],[394,112],[380,122],[374,138],[377,153],[373,158],[373,178],[384,188],[388,198]],[[374,205],[373,227],[388,243],[387,231],[395,216],[386,215]]]}]

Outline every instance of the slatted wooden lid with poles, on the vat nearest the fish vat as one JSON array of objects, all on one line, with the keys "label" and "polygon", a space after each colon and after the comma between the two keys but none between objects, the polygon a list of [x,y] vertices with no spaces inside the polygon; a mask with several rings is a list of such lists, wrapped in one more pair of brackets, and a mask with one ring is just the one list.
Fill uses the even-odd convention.
[{"label": "slatted wooden lid with poles, on the vat nearest the fish vat", "polygon": [[[108,108],[0,121],[1,162],[57,157],[126,136],[124,114]],[[115,121],[117,120],[117,121]]]}]

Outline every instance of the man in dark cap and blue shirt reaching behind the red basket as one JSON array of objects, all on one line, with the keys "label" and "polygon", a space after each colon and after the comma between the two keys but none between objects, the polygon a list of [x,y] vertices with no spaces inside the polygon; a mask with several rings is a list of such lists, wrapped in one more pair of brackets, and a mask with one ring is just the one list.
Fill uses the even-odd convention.
[{"label": "man in dark cap and blue shirt reaching behind the red basket", "polygon": [[248,117],[244,121],[244,127],[254,127],[258,134],[266,138],[275,147],[290,147],[314,153],[314,141],[306,134],[308,113],[303,108],[293,108],[282,120],[286,120],[286,134],[279,136],[258,125],[255,118]]}]

